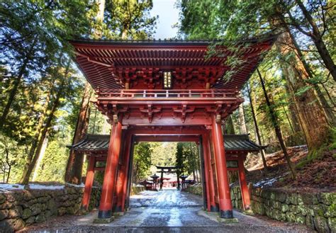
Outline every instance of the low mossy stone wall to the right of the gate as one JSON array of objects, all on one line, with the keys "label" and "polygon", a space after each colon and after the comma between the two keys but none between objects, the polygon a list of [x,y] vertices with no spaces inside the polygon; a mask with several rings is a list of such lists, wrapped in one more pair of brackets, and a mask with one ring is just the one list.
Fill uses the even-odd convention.
[{"label": "low mossy stone wall to the right of the gate", "polygon": [[[251,208],[271,219],[298,222],[318,232],[336,232],[336,193],[298,193],[252,188]],[[242,209],[240,188],[231,188],[233,207]]]}]

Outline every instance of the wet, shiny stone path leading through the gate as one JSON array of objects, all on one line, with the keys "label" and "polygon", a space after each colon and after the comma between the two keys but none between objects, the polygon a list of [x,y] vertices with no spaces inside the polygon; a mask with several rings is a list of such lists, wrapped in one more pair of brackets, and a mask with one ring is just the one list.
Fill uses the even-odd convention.
[{"label": "wet, shiny stone path leading through the gate", "polygon": [[26,232],[310,232],[307,227],[234,212],[238,224],[223,224],[202,210],[201,197],[176,190],[133,195],[130,211],[103,225],[93,224],[97,212],[55,217]]}]

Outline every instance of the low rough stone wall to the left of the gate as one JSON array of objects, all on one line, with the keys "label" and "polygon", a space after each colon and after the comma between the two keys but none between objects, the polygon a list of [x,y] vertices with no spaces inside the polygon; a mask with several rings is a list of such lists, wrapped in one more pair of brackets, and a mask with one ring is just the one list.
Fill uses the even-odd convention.
[{"label": "low rough stone wall to the left of the gate", "polygon": [[[13,232],[57,215],[74,215],[82,203],[84,188],[28,189],[0,193],[0,232]],[[100,188],[94,188],[90,209],[99,205]]]}]

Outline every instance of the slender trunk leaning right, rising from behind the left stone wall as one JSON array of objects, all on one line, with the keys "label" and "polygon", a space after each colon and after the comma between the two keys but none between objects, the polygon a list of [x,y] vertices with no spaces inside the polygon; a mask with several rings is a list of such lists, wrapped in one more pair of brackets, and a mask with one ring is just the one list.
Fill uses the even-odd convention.
[{"label": "slender trunk leaning right, rising from behind the left stone wall", "polygon": [[33,172],[36,161],[38,161],[38,156],[39,156],[41,148],[43,146],[43,141],[45,140],[45,137],[47,136],[47,132],[48,132],[48,130],[50,128],[50,125],[52,123],[52,119],[54,118],[55,112],[56,112],[56,110],[57,110],[57,108],[60,104],[60,97],[62,95],[63,87],[64,87],[64,84],[65,84],[65,79],[67,78],[67,73],[68,72],[69,72],[69,68],[67,68],[67,71],[65,72],[64,80],[62,80],[62,84],[60,85],[60,87],[57,90],[55,101],[54,101],[54,103],[52,103],[52,108],[50,110],[49,115],[47,116],[47,121],[45,123],[45,126],[43,127],[43,131],[41,132],[40,140],[38,141],[38,147],[36,148],[33,160],[29,164],[28,170],[26,171],[26,174],[24,174],[25,176],[23,176],[23,178],[21,179],[21,183],[23,183],[23,184],[27,184],[29,182],[30,175]]}]

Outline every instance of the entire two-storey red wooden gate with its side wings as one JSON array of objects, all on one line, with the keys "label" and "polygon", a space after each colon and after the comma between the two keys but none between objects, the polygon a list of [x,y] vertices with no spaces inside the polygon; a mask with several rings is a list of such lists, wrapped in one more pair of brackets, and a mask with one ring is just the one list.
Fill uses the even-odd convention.
[{"label": "entire two-storey red wooden gate with its side wings", "polygon": [[[260,148],[254,144],[257,149],[244,149],[244,141],[245,147],[252,143],[246,135],[223,137],[222,126],[242,103],[242,85],[273,42],[274,38],[245,41],[242,65],[232,69],[225,65],[232,52],[223,46],[217,47],[220,55],[206,57],[208,41],[72,41],[79,69],[96,91],[96,107],[111,123],[108,140],[86,138],[72,146],[89,154],[84,208],[89,205],[94,171],[103,169],[98,217],[110,219],[113,212],[126,210],[135,142],[183,141],[201,147],[205,208],[233,217],[230,169],[239,170],[244,208],[249,208],[243,161],[247,152]],[[233,75],[223,79],[228,71]],[[245,138],[236,138],[233,150],[225,154],[226,137]],[[96,161],[106,161],[106,166],[97,168]]]}]

